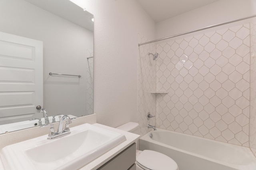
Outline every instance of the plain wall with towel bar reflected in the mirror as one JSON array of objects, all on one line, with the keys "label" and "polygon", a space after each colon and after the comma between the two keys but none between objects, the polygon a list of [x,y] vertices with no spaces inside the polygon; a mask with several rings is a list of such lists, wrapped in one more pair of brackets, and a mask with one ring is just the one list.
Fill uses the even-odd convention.
[{"label": "plain wall with towel bar reflected in the mirror", "polygon": [[[49,115],[86,114],[86,50],[93,33],[22,0],[0,1],[0,31],[44,43],[44,105]],[[49,72],[82,75],[50,76]]]}]

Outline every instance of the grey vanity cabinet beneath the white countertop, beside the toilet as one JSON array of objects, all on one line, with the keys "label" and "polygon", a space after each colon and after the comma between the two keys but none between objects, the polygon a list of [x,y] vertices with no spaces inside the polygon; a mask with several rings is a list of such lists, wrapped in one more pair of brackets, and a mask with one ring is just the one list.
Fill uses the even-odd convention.
[{"label": "grey vanity cabinet beneath the white countertop, beside the toilet", "polygon": [[136,170],[136,144],[133,143],[97,170]]}]

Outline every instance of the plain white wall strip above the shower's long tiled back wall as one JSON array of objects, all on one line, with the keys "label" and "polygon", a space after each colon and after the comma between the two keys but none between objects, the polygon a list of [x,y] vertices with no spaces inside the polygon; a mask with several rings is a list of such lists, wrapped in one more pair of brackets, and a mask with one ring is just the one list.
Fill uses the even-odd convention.
[{"label": "plain white wall strip above the shower's long tiled back wall", "polygon": [[255,8],[255,0],[219,0],[156,23],[156,38],[168,37],[250,16],[256,14]]}]

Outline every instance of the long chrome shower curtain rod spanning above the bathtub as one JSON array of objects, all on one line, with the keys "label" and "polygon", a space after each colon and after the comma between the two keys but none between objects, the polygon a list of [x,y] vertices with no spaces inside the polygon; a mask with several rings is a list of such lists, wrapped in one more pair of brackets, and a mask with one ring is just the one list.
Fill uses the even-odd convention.
[{"label": "long chrome shower curtain rod spanning above the bathtub", "polygon": [[162,40],[165,40],[165,39],[169,39],[169,38],[173,38],[173,37],[178,37],[180,35],[186,35],[186,34],[189,34],[189,33],[194,33],[194,32],[197,32],[197,31],[202,31],[204,29],[209,29],[209,28],[213,28],[213,27],[218,27],[220,25],[225,25],[225,24],[228,24],[228,23],[233,23],[233,22],[237,22],[237,21],[242,21],[242,20],[246,20],[246,19],[249,19],[249,18],[254,18],[256,17],[256,15],[252,15],[252,16],[248,16],[248,17],[244,17],[244,18],[240,18],[240,19],[236,19],[236,20],[231,20],[231,21],[227,21],[227,22],[223,22],[223,23],[218,23],[218,24],[215,24],[215,25],[210,25],[210,26],[207,26],[207,27],[203,27],[203,28],[200,28],[200,29],[196,29],[194,31],[189,31],[189,32],[185,32],[185,33],[180,33],[180,34],[176,34],[176,35],[172,35],[172,36],[169,36],[169,37],[164,37],[164,38],[160,38],[160,39],[156,39],[156,40],[153,40],[153,41],[148,41],[146,43],[140,43],[138,44],[138,46],[140,47],[141,45],[145,45],[145,44],[149,44],[149,43],[154,43],[154,42],[157,42],[157,41],[162,41]]}]

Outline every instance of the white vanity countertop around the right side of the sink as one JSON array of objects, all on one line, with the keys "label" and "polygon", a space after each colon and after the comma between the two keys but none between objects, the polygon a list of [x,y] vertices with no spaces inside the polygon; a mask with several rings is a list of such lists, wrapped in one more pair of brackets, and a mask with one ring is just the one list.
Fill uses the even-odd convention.
[{"label": "white vanity countertop around the right side of the sink", "polygon": [[140,137],[140,135],[136,135],[134,133],[129,133],[129,132],[126,132],[126,131],[122,131],[120,129],[116,129],[116,128],[113,128],[113,127],[108,127],[108,126],[101,125],[101,124],[98,124],[98,123],[94,123],[92,125],[95,125],[97,127],[101,127],[103,129],[107,129],[107,130],[110,130],[110,131],[123,133],[126,137],[126,141],[120,143],[119,145],[117,145],[113,149],[109,150],[108,152],[106,152],[102,156],[94,159],[92,162],[83,166],[79,170],[96,170],[97,168],[100,168],[100,166],[102,166],[103,164],[108,162],[110,159],[114,158],[114,156],[116,156],[117,154],[122,152],[124,149],[126,149],[128,146],[130,146],[132,143],[136,142],[137,139],[139,139],[139,137]]}]

